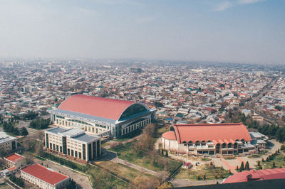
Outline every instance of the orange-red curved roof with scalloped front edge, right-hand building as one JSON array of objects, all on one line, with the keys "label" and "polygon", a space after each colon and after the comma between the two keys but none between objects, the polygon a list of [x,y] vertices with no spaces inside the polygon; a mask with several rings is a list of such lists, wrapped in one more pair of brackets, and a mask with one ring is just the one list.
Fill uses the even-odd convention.
[{"label": "orange-red curved roof with scalloped front edge, right-hand building", "polygon": [[171,126],[177,136],[177,142],[213,141],[220,144],[239,140],[252,141],[249,131],[242,123],[229,124],[175,124]]}]

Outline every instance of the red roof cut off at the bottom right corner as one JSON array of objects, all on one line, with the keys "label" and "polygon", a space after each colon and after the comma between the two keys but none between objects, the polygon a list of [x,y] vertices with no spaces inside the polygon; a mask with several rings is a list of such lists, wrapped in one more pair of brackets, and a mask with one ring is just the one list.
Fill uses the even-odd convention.
[{"label": "red roof cut off at the bottom right corner", "polygon": [[[249,178],[249,179],[247,179]],[[284,179],[285,178],[285,168],[273,168],[264,169],[257,171],[242,171],[240,173],[234,173],[223,183],[241,183],[252,180],[271,180],[271,179]]]}]

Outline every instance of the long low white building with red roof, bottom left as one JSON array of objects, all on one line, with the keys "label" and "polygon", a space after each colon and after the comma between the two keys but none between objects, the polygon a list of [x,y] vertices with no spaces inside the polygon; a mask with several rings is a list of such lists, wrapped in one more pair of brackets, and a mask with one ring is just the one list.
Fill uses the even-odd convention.
[{"label": "long low white building with red roof, bottom left", "polygon": [[69,176],[41,166],[38,163],[21,168],[21,178],[37,185],[39,188],[64,188],[70,179]]}]

